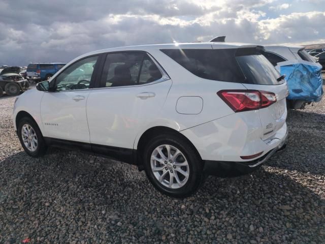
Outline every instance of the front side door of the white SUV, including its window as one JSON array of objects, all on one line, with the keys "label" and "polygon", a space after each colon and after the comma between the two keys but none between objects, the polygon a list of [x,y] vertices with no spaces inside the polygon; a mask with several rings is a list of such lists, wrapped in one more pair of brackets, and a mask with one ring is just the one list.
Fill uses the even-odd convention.
[{"label": "front side door of the white SUV, including its window", "polygon": [[44,136],[89,143],[86,103],[97,59],[81,59],[51,81],[55,90],[45,92],[41,101]]}]

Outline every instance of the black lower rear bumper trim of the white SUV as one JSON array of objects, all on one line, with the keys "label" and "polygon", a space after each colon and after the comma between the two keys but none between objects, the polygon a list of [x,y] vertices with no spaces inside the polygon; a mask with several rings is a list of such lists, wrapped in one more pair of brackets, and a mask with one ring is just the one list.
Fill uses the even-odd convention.
[{"label": "black lower rear bumper trim of the white SUV", "polygon": [[266,153],[261,158],[246,162],[204,160],[203,171],[207,175],[217,175],[220,177],[238,176],[253,172],[268,159],[270,159],[274,154],[279,153],[285,149],[287,135],[288,134],[286,133],[285,137],[281,140],[280,144],[277,147],[268,151],[268,153]]}]

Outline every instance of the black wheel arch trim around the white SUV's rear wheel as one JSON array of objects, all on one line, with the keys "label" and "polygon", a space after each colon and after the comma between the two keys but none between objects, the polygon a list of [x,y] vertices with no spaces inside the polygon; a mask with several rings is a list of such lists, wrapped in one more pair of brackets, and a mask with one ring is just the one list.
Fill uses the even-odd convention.
[{"label": "black wheel arch trim around the white SUV's rear wheel", "polygon": [[[137,165],[139,170],[143,170],[143,150],[144,147],[146,145],[146,142],[149,140],[149,138],[153,137],[153,136],[157,136],[160,134],[174,134],[178,137],[183,138],[184,140],[186,140],[190,145],[192,145],[193,149],[195,150],[195,152],[197,153],[197,155],[201,158],[201,155],[199,154],[198,149],[194,146],[194,144],[186,137],[184,136],[182,133],[180,133],[179,131],[172,129],[170,127],[165,127],[165,126],[155,126],[155,127],[151,127],[149,129],[147,129],[139,138],[138,144],[137,144]],[[201,158],[202,160],[202,158]]]}]

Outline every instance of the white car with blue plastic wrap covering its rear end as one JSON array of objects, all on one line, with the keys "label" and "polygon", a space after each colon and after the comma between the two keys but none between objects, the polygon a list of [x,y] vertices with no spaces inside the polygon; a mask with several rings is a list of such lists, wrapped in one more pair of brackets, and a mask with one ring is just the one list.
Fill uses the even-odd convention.
[{"label": "white car with blue plastic wrap covering its rear end", "polygon": [[304,47],[265,46],[264,55],[281,75],[285,75],[289,108],[303,108],[306,104],[321,100],[321,65]]}]

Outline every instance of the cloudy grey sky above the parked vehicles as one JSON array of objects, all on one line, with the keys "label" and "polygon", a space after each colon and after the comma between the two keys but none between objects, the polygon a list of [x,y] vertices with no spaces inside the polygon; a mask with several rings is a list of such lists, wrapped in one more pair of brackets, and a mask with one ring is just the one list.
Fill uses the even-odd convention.
[{"label": "cloudy grey sky above the parked vehicles", "polygon": [[0,65],[221,35],[230,42],[325,43],[324,23],[325,0],[0,0]]}]

